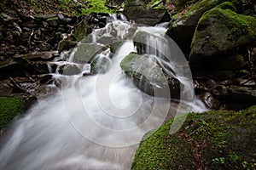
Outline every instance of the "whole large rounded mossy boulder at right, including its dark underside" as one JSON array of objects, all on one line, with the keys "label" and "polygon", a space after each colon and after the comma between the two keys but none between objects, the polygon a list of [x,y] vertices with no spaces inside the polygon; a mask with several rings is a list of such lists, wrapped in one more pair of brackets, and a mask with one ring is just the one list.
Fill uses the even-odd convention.
[{"label": "whole large rounded mossy boulder at right, including its dark underside", "polygon": [[[245,65],[243,51],[256,40],[256,19],[230,9],[212,8],[198,22],[191,43],[192,67],[228,70]],[[235,56],[234,56],[235,54]],[[231,56],[231,57],[230,57]]]}]

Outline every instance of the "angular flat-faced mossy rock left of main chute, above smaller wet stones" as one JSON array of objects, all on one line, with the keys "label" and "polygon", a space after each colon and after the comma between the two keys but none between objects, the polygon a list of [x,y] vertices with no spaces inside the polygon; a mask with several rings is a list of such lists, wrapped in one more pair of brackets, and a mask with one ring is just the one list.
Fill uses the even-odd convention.
[{"label": "angular flat-faced mossy rock left of main chute, above smaller wet stones", "polygon": [[96,54],[100,54],[105,49],[103,45],[95,43],[80,43],[73,56],[73,61],[79,64],[88,63],[96,57]]}]

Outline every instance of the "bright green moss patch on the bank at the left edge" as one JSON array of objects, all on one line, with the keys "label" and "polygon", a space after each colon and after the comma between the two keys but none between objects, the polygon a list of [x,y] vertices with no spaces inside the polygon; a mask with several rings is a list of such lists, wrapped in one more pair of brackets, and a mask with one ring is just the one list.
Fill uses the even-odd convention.
[{"label": "bright green moss patch on the bank at the left edge", "polygon": [[24,109],[21,98],[0,98],[0,129],[6,127]]}]

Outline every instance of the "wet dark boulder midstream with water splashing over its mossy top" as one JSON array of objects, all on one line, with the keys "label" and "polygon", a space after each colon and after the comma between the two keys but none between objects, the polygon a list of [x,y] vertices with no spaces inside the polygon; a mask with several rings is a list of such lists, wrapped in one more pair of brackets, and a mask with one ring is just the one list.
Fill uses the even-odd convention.
[{"label": "wet dark boulder midstream with water splashing over its mossy top", "polygon": [[180,94],[179,81],[167,75],[157,59],[149,54],[128,54],[120,63],[125,75],[144,93],[178,99]]}]

